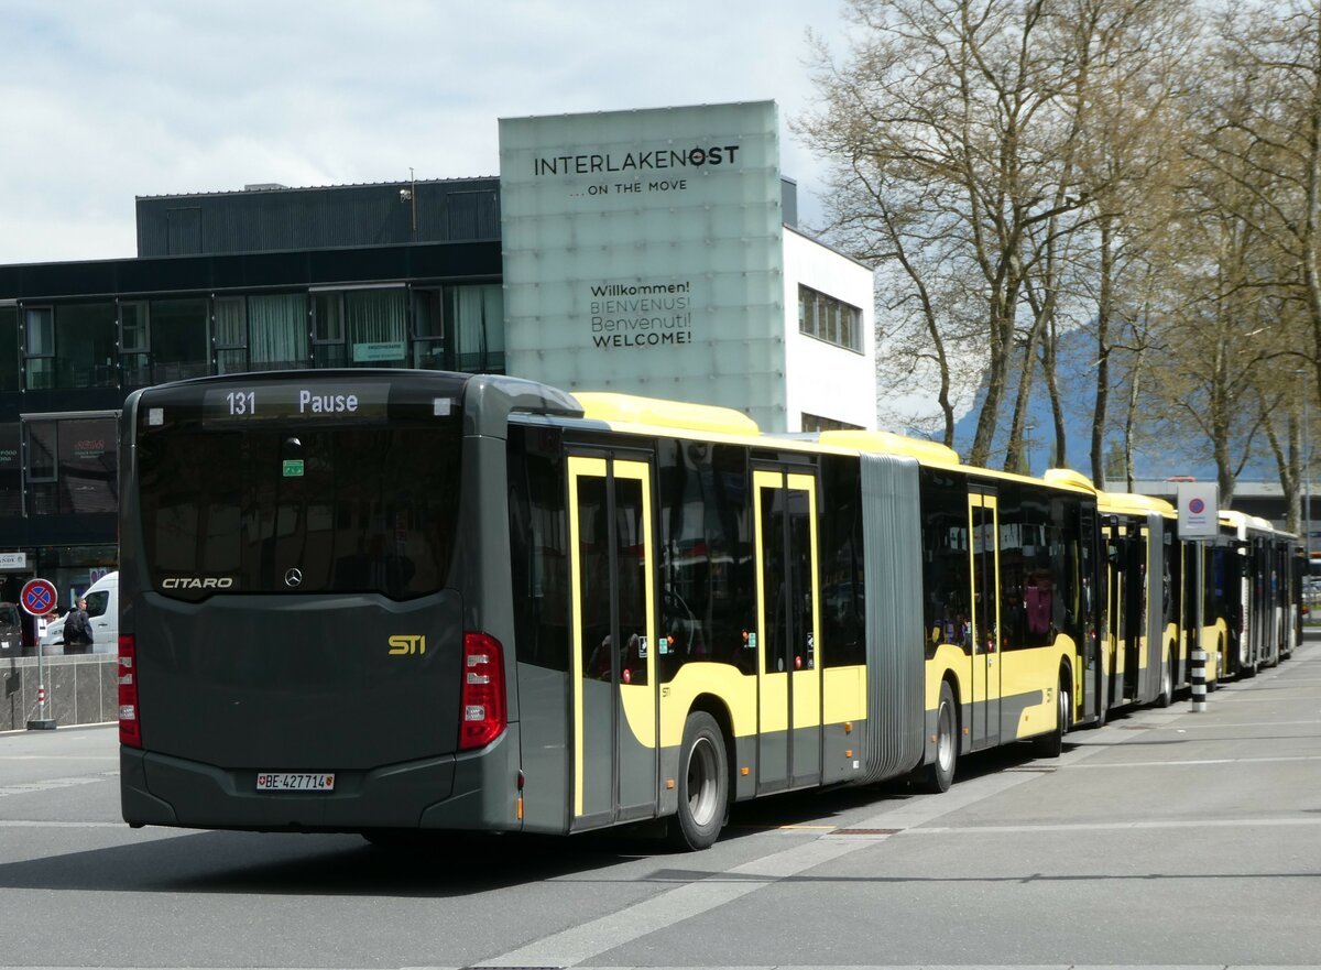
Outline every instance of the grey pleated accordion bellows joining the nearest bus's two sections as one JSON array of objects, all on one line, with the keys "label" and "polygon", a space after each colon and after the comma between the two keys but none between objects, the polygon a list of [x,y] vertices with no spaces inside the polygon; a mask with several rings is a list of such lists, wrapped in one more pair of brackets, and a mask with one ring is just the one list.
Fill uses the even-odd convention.
[{"label": "grey pleated accordion bellows joining the nearest bus's two sections", "polygon": [[867,727],[861,782],[922,763],[922,509],[911,459],[864,455]]}]

